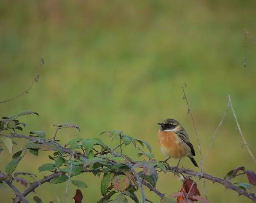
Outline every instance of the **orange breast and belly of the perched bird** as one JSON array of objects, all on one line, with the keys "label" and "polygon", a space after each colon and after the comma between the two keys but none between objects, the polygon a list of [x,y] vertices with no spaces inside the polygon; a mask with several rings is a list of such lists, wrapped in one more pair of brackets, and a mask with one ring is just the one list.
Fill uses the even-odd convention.
[{"label": "orange breast and belly of the perched bird", "polygon": [[190,155],[189,146],[181,140],[174,131],[159,131],[158,143],[164,155],[172,158],[182,158]]}]

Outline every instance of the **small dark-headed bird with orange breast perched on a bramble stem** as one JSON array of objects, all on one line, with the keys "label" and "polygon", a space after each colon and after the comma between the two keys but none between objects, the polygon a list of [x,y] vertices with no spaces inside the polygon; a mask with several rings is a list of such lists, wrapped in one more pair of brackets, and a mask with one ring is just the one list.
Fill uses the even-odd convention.
[{"label": "small dark-headed bird with orange breast perched on a bramble stem", "polygon": [[[166,118],[159,124],[160,130],[158,131],[158,143],[160,149],[166,157],[169,158],[183,158],[188,157],[198,167],[193,156],[195,156],[195,149],[189,140],[189,135],[186,130],[180,125],[178,121],[172,118]],[[168,161],[169,158],[165,160]],[[175,167],[178,168],[180,160]]]}]

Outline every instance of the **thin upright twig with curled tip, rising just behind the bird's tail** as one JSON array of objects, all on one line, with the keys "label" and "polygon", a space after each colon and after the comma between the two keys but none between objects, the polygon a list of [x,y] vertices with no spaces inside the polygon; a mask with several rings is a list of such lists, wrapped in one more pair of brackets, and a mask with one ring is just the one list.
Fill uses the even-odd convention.
[{"label": "thin upright twig with curled tip, rising just behind the bird's tail", "polygon": [[[190,117],[192,119],[192,122],[193,122],[193,126],[194,126],[194,130],[195,130],[195,135],[196,135],[196,139],[197,139],[197,142],[198,142],[198,149],[199,149],[199,154],[200,154],[200,160],[201,160],[201,172],[203,172],[203,156],[202,156],[202,152],[201,152],[201,144],[200,144],[200,141],[199,141],[199,138],[198,138],[198,133],[197,133],[197,130],[196,130],[196,126],[195,126],[195,121],[194,121],[194,118],[192,116],[192,113],[191,113],[191,110],[190,110],[190,107],[189,107],[189,101],[188,101],[188,98],[186,97],[186,92],[184,90],[184,86],[186,87],[186,84],[184,84],[181,88],[183,90],[183,99],[186,101],[186,104],[187,104],[187,107],[188,107],[188,112],[187,114],[190,114]],[[195,180],[194,180],[195,182]],[[194,184],[193,182],[193,184]],[[204,184],[204,193],[205,193],[205,197],[206,199],[208,200],[208,197],[207,197],[207,190],[206,190],[206,183],[205,183],[205,180],[203,181],[203,184]],[[192,187],[191,187],[192,188]],[[190,188],[190,189],[191,189]],[[188,195],[187,195],[188,197]],[[186,198],[187,198],[186,197]]]}]

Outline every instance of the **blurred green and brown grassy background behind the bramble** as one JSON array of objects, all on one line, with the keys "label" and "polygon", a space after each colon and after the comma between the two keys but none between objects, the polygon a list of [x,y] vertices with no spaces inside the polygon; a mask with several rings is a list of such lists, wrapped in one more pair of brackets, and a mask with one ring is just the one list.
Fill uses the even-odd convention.
[{"label": "blurred green and brown grassy background behind the bramble", "polygon": [[[253,0],[1,0],[0,101],[23,92],[40,72],[39,82],[29,94],[0,104],[1,116],[36,111],[39,118],[20,117],[28,124],[23,133],[44,130],[48,138],[55,133],[55,123],[79,125],[81,133],[60,130],[62,144],[76,135],[98,137],[103,130],[123,130],[148,141],[157,159],[165,158],[157,144],[157,122],[175,118],[188,132],[200,163],[192,121],[182,100],[181,87],[186,83],[203,156],[227,108],[229,94],[256,156],[256,46],[249,36],[244,41],[244,29],[256,37],[255,8]],[[45,65],[39,68],[42,55]],[[102,139],[110,146],[117,144],[108,136]],[[25,143],[16,141],[14,151]],[[230,110],[205,161],[205,172],[223,178],[237,166],[255,171],[242,142]],[[132,147],[125,152],[137,159]],[[11,158],[8,150],[0,154],[0,170],[5,171]],[[47,162],[51,162],[47,152],[40,152],[39,157],[27,154],[17,171],[37,173]],[[169,164],[175,165],[177,160]],[[197,170],[188,158],[181,165]],[[39,178],[43,175],[47,172],[41,172]],[[101,198],[101,179],[90,174],[78,178],[88,185],[81,189],[83,202]],[[248,180],[244,176],[234,181]],[[204,196],[203,181],[197,183]],[[181,184],[171,173],[160,173],[157,189],[169,195]],[[66,183],[45,183],[35,191],[44,202],[58,202],[56,197],[62,202],[65,187]],[[70,184],[67,203],[73,202],[75,190]],[[160,200],[146,188],[145,194],[151,201]],[[27,196],[29,202],[33,195]],[[250,202],[236,192],[224,193],[224,186],[209,181],[207,195],[211,203],[224,199]],[[11,203],[11,197],[12,191],[0,191],[0,202]]]}]

